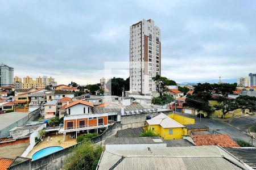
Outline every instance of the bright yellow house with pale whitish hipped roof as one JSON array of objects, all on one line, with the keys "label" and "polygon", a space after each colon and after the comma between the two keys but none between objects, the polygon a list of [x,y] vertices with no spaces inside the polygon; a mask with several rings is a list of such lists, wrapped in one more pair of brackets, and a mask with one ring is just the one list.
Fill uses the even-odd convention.
[{"label": "bright yellow house with pale whitish hipped roof", "polygon": [[183,135],[187,135],[184,125],[163,113],[147,120],[147,124],[147,129],[159,134],[163,139],[182,139]]}]

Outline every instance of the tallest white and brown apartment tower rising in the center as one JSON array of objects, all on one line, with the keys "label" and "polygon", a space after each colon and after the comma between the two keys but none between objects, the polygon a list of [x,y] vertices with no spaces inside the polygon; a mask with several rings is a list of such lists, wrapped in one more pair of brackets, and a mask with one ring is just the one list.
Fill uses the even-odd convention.
[{"label": "tallest white and brown apartment tower rising in the center", "polygon": [[152,77],[161,75],[161,31],[154,20],[130,26],[130,93],[151,94]]}]

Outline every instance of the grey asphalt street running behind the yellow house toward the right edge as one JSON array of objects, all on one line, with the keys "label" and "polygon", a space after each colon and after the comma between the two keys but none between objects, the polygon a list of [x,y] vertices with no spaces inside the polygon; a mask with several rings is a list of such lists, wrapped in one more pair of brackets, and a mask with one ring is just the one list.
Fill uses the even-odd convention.
[{"label": "grey asphalt street running behind the yellow house toward the right edge", "polygon": [[[200,123],[199,117],[194,117],[189,114],[180,114],[180,113],[176,113],[176,114],[179,114],[181,116],[195,118],[195,122]],[[242,140],[242,141],[251,143],[251,137],[249,135],[245,134],[244,132],[242,132],[236,128],[233,128],[232,126],[230,126],[229,124],[227,124],[225,122],[222,122],[220,120],[213,119],[213,118],[201,118],[201,123],[208,126],[210,128],[210,130],[215,130],[218,133],[230,135],[230,137],[232,137],[236,141]],[[254,145],[256,144],[255,139],[253,139],[253,144]]]}]

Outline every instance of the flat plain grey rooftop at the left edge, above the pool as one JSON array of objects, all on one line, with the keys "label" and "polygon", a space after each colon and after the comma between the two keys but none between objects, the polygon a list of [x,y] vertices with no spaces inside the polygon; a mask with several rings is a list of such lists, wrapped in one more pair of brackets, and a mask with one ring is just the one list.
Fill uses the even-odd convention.
[{"label": "flat plain grey rooftop at the left edge, above the pool", "polygon": [[0,114],[0,130],[28,116],[28,112],[11,112]]}]

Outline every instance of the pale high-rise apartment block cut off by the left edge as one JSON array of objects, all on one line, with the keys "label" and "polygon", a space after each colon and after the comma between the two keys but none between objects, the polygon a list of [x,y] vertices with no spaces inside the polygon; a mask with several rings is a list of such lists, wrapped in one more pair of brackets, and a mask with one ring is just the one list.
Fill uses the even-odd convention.
[{"label": "pale high-rise apartment block cut off by the left edge", "polygon": [[0,64],[0,87],[13,85],[14,69],[4,63]]}]

